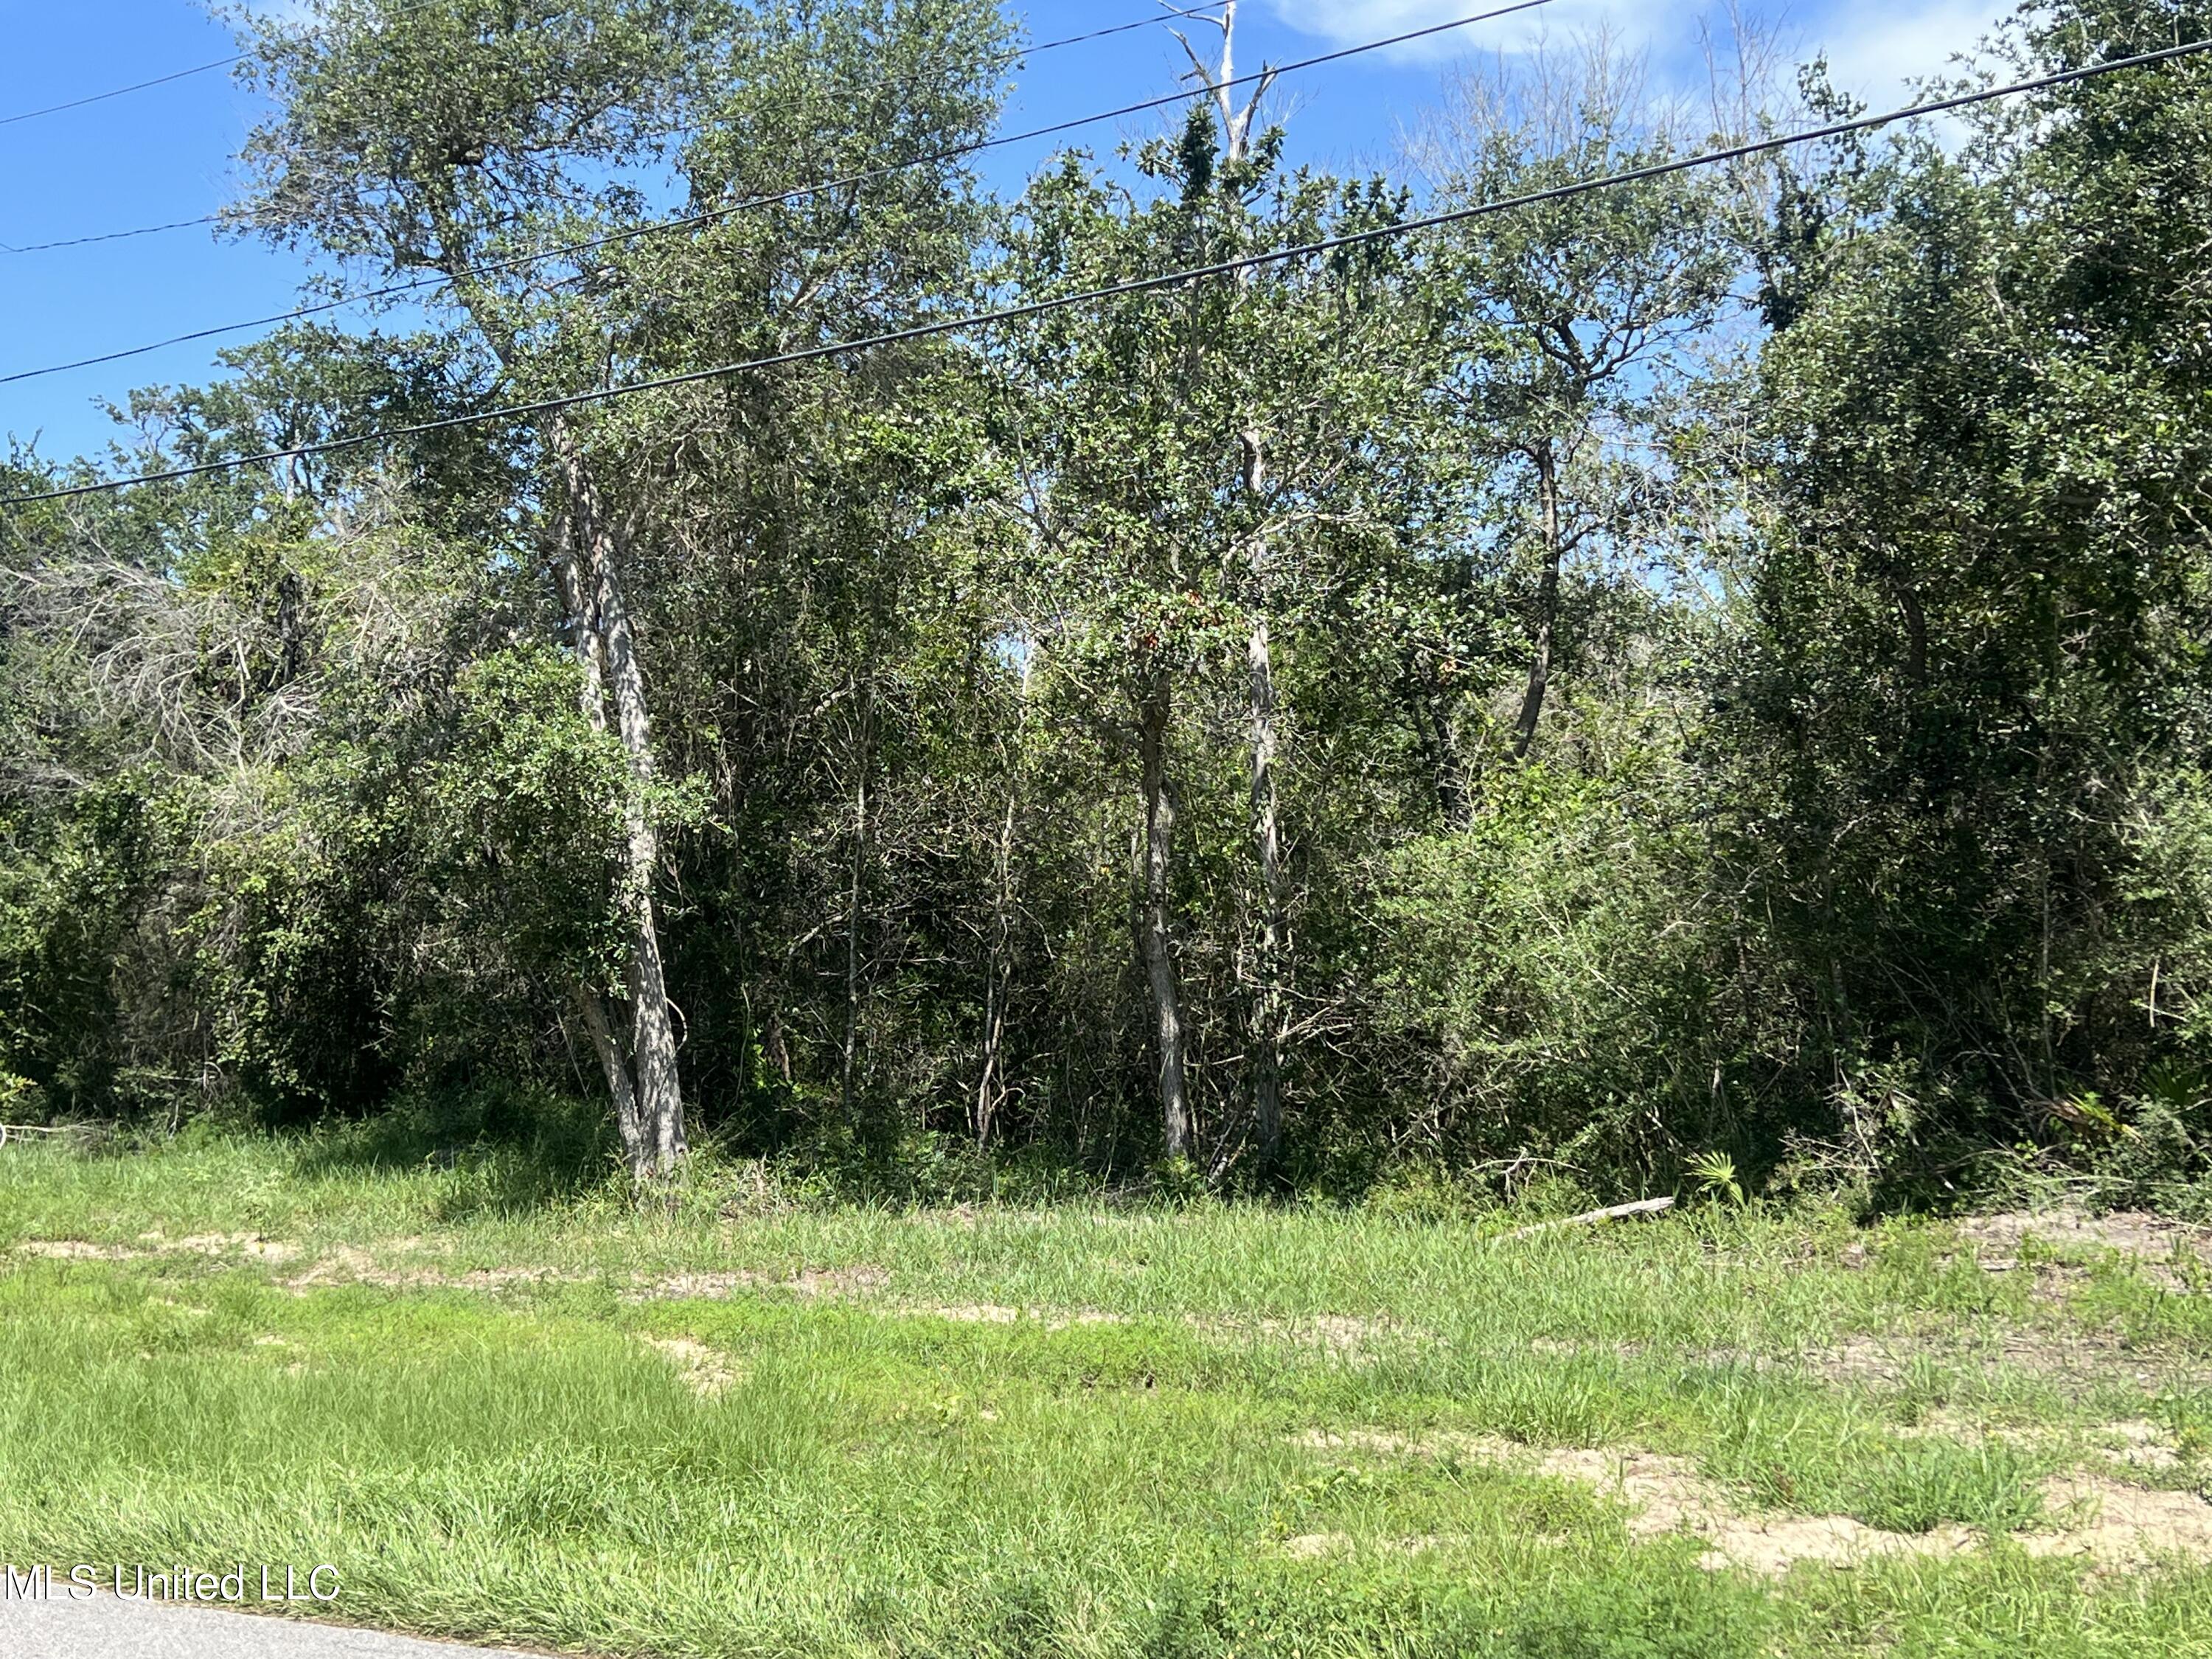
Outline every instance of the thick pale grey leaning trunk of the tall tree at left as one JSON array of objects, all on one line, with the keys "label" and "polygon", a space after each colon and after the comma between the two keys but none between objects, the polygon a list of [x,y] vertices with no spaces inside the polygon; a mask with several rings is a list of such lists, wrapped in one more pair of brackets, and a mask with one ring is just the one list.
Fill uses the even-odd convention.
[{"label": "thick pale grey leaning trunk of the tall tree at left", "polygon": [[[646,710],[644,666],[637,659],[637,637],[622,595],[619,538],[611,524],[597,487],[584,467],[584,456],[566,425],[553,420],[549,445],[560,460],[568,487],[564,513],[566,553],[555,564],[562,599],[568,604],[577,655],[586,659],[586,701],[604,730],[602,697],[615,706],[615,732],[630,759],[630,787],[624,792],[622,911],[630,933],[630,1075],[633,1110],[624,1130],[624,1152],[639,1179],[666,1179],[688,1150],[684,1139],[684,1091],[677,1077],[677,1037],[668,1004],[668,978],[661,964],[661,938],[655,922],[653,885],[659,869],[659,832],[648,810],[655,779],[653,723]],[[593,993],[597,995],[597,993]],[[606,1029],[602,1013],[599,1026]],[[597,1035],[593,1037],[597,1044]],[[608,1033],[613,1042],[613,1033]],[[602,1055],[604,1062],[604,1055]],[[617,1124],[624,1121],[622,1088],[608,1073]]]}]

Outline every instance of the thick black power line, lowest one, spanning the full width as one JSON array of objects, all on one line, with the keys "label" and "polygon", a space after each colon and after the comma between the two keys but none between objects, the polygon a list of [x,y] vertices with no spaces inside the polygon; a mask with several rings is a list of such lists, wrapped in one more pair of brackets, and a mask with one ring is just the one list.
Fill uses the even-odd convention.
[{"label": "thick black power line, lowest one, spanning the full width", "polygon": [[717,363],[706,369],[661,374],[650,380],[630,380],[628,385],[615,385],[615,387],[593,387],[591,392],[571,392],[566,396],[538,398],[533,403],[511,403],[500,409],[480,409],[476,414],[445,416],[440,420],[420,420],[416,425],[392,427],[387,431],[363,431],[352,438],[325,438],[321,442],[299,445],[296,449],[268,449],[259,456],[208,460],[195,467],[173,467],[159,473],[144,473],[139,478],[108,478],[97,484],[71,484],[69,489],[46,489],[33,495],[9,495],[0,498],[0,507],[29,507],[31,502],[55,502],[55,500],[71,500],[77,495],[104,495],[131,489],[135,484],[173,484],[184,478],[204,478],[208,473],[237,471],[239,467],[261,467],[274,460],[305,460],[307,456],[327,456],[341,449],[361,449],[363,445],[387,442],[394,438],[420,438],[434,431],[451,431],[453,427],[480,425],[484,420],[520,420],[524,416],[542,416],[542,414],[553,414],[557,409],[575,409],[580,405],[611,403],[615,398],[626,398],[637,392],[666,392],[670,387],[697,385],[701,380],[721,380],[734,374],[754,374],[761,369],[776,369],[794,363],[814,363],[818,358],[845,356],[847,352],[872,352],[885,345],[905,345],[911,341],[927,341],[942,334],[960,334],[964,330],[984,327],[989,323],[1018,323],[1029,316],[1044,316],[1048,312],[1071,310],[1075,305],[1088,305],[1093,301],[1126,299],[1130,294],[1150,294],[1161,288],[1177,288],[1181,283],[1203,281],[1208,276],[1232,276],[1241,270],[1256,270],[1261,265],[1281,265],[1292,259],[1312,259],[1314,254],[1329,254],[1343,248],[1365,248],[1378,241],[1389,241],[1394,237],[1407,237],[1418,230],[1438,230],[1442,226],[1467,223],[1471,219],[1486,219],[1498,212],[1513,212],[1515,208],[1533,208],[1546,201],[1566,201],[1571,197],[1595,195],[1597,190],[1613,190],[1624,184],[1663,179],[1674,173],[1688,173],[1690,168],[1714,166],[1721,161],[1741,161],[1754,155],[1770,155],[1774,150],[1785,150],[1796,144],[1818,144],[1832,137],[1845,137],[1849,133],[1865,133],[1876,126],[1889,126],[1891,122],[1907,122],[1920,115],[1942,115],[1947,111],[1966,108],[1971,104],[1989,104],[2000,97],[2017,97],[2022,93],[2042,93],[2055,86],[2070,86],[2075,82],[2110,75],[2121,69],[2146,69],[2150,64],[2172,62],[2177,58],[2197,58],[2208,51],[2212,51],[2212,40],[2192,40],[2183,46],[2163,46],[2159,51],[2137,53],[2132,58],[2115,58],[2112,62],[2104,64],[2084,64],[2081,69],[2066,69],[2053,75],[2037,75],[2035,80],[2011,82],[2008,86],[1984,86],[1973,93],[1938,97],[1924,104],[1907,104],[1902,108],[1885,111],[1880,115],[1858,115],[1847,122],[1829,122],[1827,126],[1816,126],[1805,133],[1781,133],[1774,137],[1750,139],[1745,144],[1730,144],[1717,150],[1699,150],[1694,155],[1679,155],[1670,161],[1652,161],[1650,166],[1641,168],[1624,168],[1619,173],[1601,173],[1593,179],[1575,179],[1571,184],[1557,184],[1546,190],[1528,190],[1517,197],[1498,197],[1493,201],[1478,201],[1469,208],[1431,212],[1422,219],[1402,219],[1394,226],[1352,230],[1343,237],[1325,237],[1321,241],[1307,241],[1294,248],[1272,248],[1261,254],[1223,259],[1212,265],[1188,265],[1183,270],[1170,270],[1161,276],[1135,276],[1126,283],[1113,283],[1108,288],[1088,288],[1075,294],[1055,294],[1051,299],[1029,301],[1026,305],[1006,305],[993,312],[945,316],[933,323],[916,323],[914,327],[891,330],[889,334],[869,334],[849,341],[825,341],[821,345],[805,345],[792,352],[776,352],[772,356],[741,358],[737,363]]}]

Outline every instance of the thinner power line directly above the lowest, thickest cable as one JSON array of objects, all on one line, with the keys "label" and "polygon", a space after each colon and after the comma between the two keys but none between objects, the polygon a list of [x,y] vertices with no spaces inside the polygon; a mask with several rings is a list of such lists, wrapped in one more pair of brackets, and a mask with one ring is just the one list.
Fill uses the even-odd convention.
[{"label": "thinner power line directly above the lowest, thickest cable", "polygon": [[[1509,18],[1515,11],[1535,11],[1537,7],[1548,7],[1548,4],[1553,4],[1553,0],[1515,0],[1513,4],[1498,7],[1495,11],[1478,11],[1471,18],[1455,18],[1451,22],[1436,22],[1436,24],[1429,24],[1427,29],[1411,29],[1411,31],[1407,31],[1402,35],[1387,35],[1385,40],[1367,40],[1367,42],[1360,42],[1356,46],[1340,46],[1338,51],[1321,53],[1318,58],[1301,58],[1301,60],[1290,62],[1290,64],[1276,64],[1272,69],[1252,71],[1250,75],[1234,75],[1234,77],[1221,82],[1221,88],[1245,86],[1245,84],[1252,84],[1252,82],[1272,80],[1276,75],[1290,75],[1290,73],[1303,71],[1303,69],[1318,69],[1323,64],[1343,62],[1345,58],[1358,58],[1363,53],[1385,51],[1389,46],[1402,46],[1402,44],[1413,42],[1413,40],[1427,40],[1429,35],[1442,35],[1442,33],[1453,31],[1453,29],[1467,29],[1467,27],[1478,24],[1478,22],[1493,22],[1495,18]],[[1194,11],[1203,11],[1203,9],[1206,7],[1197,7]],[[1183,11],[1183,13],[1175,13],[1175,15],[1192,15],[1192,13]],[[1150,22],[1159,22],[1159,20],[1157,18],[1146,18],[1146,22],[1150,24]],[[1137,24],[1121,24],[1121,29],[1133,29],[1133,27],[1137,27]],[[1064,42],[1055,42],[1055,44],[1064,44]],[[827,192],[827,190],[849,190],[849,188],[856,188],[856,186],[863,186],[863,184],[874,184],[876,179],[887,179],[894,173],[909,173],[914,168],[938,166],[942,161],[960,161],[960,159],[964,159],[969,155],[982,155],[984,150],[998,150],[998,148],[1004,148],[1009,144],[1026,144],[1031,139],[1053,137],[1057,133],[1073,133],[1075,128],[1082,128],[1082,126],[1097,126],[1099,122],[1115,122],[1115,119],[1121,119],[1126,115],[1144,115],[1146,111],[1164,108],[1168,104],[1183,104],[1183,102],[1190,102],[1192,97],[1210,97],[1210,95],[1212,95],[1210,88],[1199,88],[1199,91],[1188,91],[1188,93],[1166,93],[1164,97],[1148,97],[1141,104],[1124,104],[1121,108],[1102,111],[1097,115],[1077,115],[1077,117],[1066,119],[1066,122],[1053,122],[1048,126],[1033,126],[1033,128],[1029,128],[1024,133],[1004,133],[1000,137],[973,139],[969,144],[956,144],[951,148],[936,150],[931,155],[909,157],[907,161],[887,161],[883,166],[867,168],[865,173],[852,173],[852,175],[847,175],[843,179],[816,179],[812,184],[799,184],[799,186],[792,186],[790,190],[781,190],[776,195],[748,197],[743,201],[732,201],[726,208],[708,208],[703,212],[684,215],[681,219],[650,219],[650,221],[644,221],[644,223],[624,226],[622,230],[611,230],[611,232],[599,234],[599,237],[588,237],[584,241],[555,243],[551,248],[538,248],[533,252],[513,254],[509,259],[491,259],[491,261],[487,261],[482,265],[465,265],[462,270],[456,270],[456,272],[436,272],[431,276],[411,276],[411,279],[407,279],[403,283],[387,283],[385,288],[369,288],[369,290],[363,290],[358,294],[347,294],[345,299],[325,299],[325,301],[316,301],[314,305],[299,305],[299,307],[294,307],[290,312],[274,312],[270,316],[254,316],[254,319],[248,319],[243,323],[217,323],[212,327],[190,330],[188,334],[170,334],[166,341],[148,341],[146,345],[131,345],[131,347],[124,347],[119,352],[100,352],[97,356],[82,356],[82,358],[75,358],[73,363],[51,363],[51,365],[46,365],[42,369],[15,369],[13,374],[0,374],[0,385],[13,385],[18,380],[38,380],[38,378],[42,378],[46,374],[69,374],[71,369],[91,369],[91,367],[97,367],[102,363],[122,363],[124,358],[146,356],[148,352],[166,352],[170,345],[190,345],[192,341],[208,341],[208,338],[217,338],[221,334],[241,334],[241,332],[246,332],[250,327],[274,327],[279,323],[296,323],[296,321],[301,321],[305,316],[321,316],[323,312],[334,312],[334,310],[341,310],[345,305],[365,305],[367,301],[392,299],[396,294],[414,294],[414,292],[420,292],[425,288],[442,288],[447,283],[456,283],[456,281],[462,281],[462,279],[495,276],[500,272],[522,270],[526,265],[535,265],[535,263],[546,261],[546,259],[557,259],[562,254],[582,254],[582,252],[591,252],[593,248],[606,248],[606,246],[617,243],[617,241],[628,241],[630,237],[666,234],[670,230],[692,230],[692,228],[699,228],[699,226],[719,223],[719,221],[730,219],[730,217],[734,217],[739,212],[752,212],[757,208],[772,208],[772,206],[776,206],[781,201],[792,201],[796,197],[821,195],[821,192]]]}]

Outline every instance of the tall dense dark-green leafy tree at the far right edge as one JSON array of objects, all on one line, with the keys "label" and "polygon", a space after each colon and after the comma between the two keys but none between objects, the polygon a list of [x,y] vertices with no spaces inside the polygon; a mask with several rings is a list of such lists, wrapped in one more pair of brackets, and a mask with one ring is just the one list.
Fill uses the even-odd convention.
[{"label": "tall dense dark-green leafy tree at the far right edge", "polygon": [[2199,66],[2112,77],[1986,115],[1958,157],[1838,161],[1765,352],[1774,522],[1717,677],[1714,812],[1816,1064],[1893,1068],[1905,1146],[2104,1146],[2099,1102],[2199,1062],[2212,380],[2143,332],[2201,327],[2203,296],[2130,239],[2212,223],[2181,161],[2208,97]]}]

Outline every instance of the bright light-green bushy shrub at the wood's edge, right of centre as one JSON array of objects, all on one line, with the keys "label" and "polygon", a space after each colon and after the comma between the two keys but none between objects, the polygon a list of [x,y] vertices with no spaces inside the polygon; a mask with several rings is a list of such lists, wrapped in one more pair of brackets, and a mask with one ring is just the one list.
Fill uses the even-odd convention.
[{"label": "bright light-green bushy shrub at the wood's edge, right of centre", "polygon": [[1440,1035],[1436,1133],[1464,1150],[1626,1175],[1736,1124],[1747,987],[1725,922],[1681,916],[1703,872],[1677,776],[1657,754],[1619,765],[1511,772],[1469,832],[1396,863],[1383,987],[1398,1020]]}]

